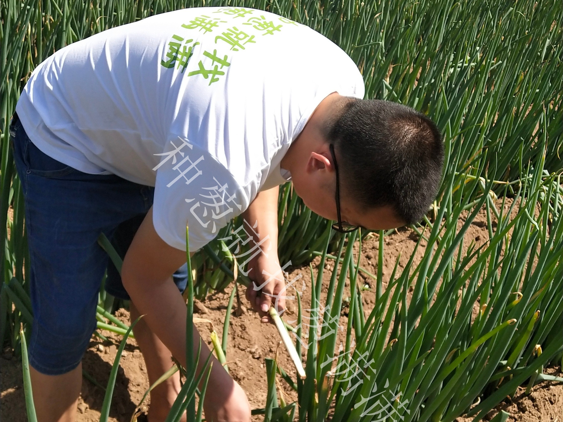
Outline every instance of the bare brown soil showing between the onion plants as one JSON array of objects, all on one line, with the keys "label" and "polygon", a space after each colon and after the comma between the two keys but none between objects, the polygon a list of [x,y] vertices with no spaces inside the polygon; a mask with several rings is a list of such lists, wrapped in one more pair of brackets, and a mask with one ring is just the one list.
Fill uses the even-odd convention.
[{"label": "bare brown soil showing between the onion plants", "polygon": [[[475,241],[477,245],[488,239],[488,228],[486,227],[486,216],[481,212],[472,222],[466,234],[467,242]],[[414,250],[417,234],[411,230],[399,230],[385,238],[385,258],[383,259],[383,287],[386,288],[388,279],[395,265],[396,258],[401,255],[399,267],[404,267]],[[421,246],[425,246],[422,242]],[[364,241],[360,259],[360,265],[367,271],[375,274],[377,272],[378,239],[373,236]],[[467,247],[467,246],[466,246]],[[357,257],[356,250],[356,257]],[[422,250],[415,255],[415,263],[422,257]],[[312,267],[316,273],[320,259],[316,258]],[[332,261],[325,264],[323,277],[323,293],[327,291],[329,274],[334,266]],[[360,272],[359,282],[363,282],[371,289],[363,293],[364,312],[368,313],[374,306],[375,284],[373,279]],[[309,287],[311,276],[309,267],[293,268],[289,273],[288,282],[292,283],[292,289],[288,294],[303,293],[303,308],[310,308]],[[222,327],[225,319],[225,310],[229,300],[232,286],[225,293],[211,295],[200,307],[199,315],[213,322],[219,338],[222,335]],[[345,294],[346,296],[346,294]],[[240,289],[242,307],[236,312],[233,309],[230,318],[229,343],[227,347],[227,363],[233,378],[242,385],[247,392],[248,399],[253,408],[264,407],[266,403],[266,369],[264,359],[266,357],[278,356],[278,363],[283,369],[295,379],[295,369],[289,360],[283,345],[280,345],[279,335],[272,324],[262,324],[244,298],[244,288]],[[323,298],[324,299],[324,298]],[[324,300],[323,302],[324,303]],[[478,306],[478,304],[477,304]],[[234,308],[236,308],[236,303]],[[288,302],[288,311],[284,319],[292,321],[297,318],[297,304],[295,300]],[[477,310],[477,307],[476,307]],[[242,312],[241,312],[242,311]],[[118,318],[128,322],[128,312],[120,309]],[[343,309],[342,322],[346,326],[347,309]],[[200,323],[198,329],[203,339],[211,344],[209,324]],[[92,337],[90,346],[83,358],[83,369],[95,379],[100,385],[106,385],[111,365],[114,361],[117,347],[121,340],[119,335],[108,331],[102,331],[108,337],[107,341]],[[305,350],[303,350],[305,353]],[[561,368],[547,369],[546,372],[557,374]],[[145,363],[135,340],[129,339],[125,352],[120,361],[117,382],[114,390],[113,402],[110,411],[111,422],[128,422],[133,410],[140,402],[149,383],[146,377]],[[280,380],[279,387],[282,389],[286,402],[296,399],[296,393],[289,388],[285,381]],[[93,422],[99,420],[100,408],[104,399],[104,390],[92,381],[84,378],[82,393],[78,406],[78,422]],[[149,404],[149,403],[147,403]],[[563,422],[563,385],[556,383],[543,383],[534,387],[533,393],[525,396],[524,389],[517,393],[514,402],[501,403],[499,408],[504,408],[510,414],[508,421],[518,422]],[[486,419],[494,414],[492,412]],[[254,421],[260,421],[263,416],[254,416]],[[21,363],[12,358],[10,351],[5,351],[0,358],[0,421],[23,422],[26,420],[23,384],[21,379]],[[471,419],[458,418],[458,422],[470,422]]]}]

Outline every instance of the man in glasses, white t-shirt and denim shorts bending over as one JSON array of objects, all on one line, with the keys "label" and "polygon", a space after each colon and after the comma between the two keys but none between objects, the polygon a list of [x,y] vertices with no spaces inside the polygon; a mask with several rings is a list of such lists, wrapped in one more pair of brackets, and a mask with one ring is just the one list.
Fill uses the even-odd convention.
[{"label": "man in glasses, white t-shirt and denim shorts bending over", "polygon": [[[244,8],[149,17],[39,65],[11,124],[39,421],[76,418],[108,266],[100,232],[127,252],[122,277],[108,270],[105,289],[131,299],[132,320],[145,314],[134,333],[153,383],[171,356],[186,363],[186,223],[193,253],[233,217],[257,222],[269,252],[248,268],[254,285],[265,286],[247,296],[266,321],[271,295],[284,287],[280,184],[291,180],[339,231],[418,221],[440,182],[440,133],[409,107],[363,97],[358,68],[327,38]],[[150,422],[165,419],[179,389],[176,374],[151,392]],[[247,397],[215,358],[204,405],[208,421],[250,420]]]}]

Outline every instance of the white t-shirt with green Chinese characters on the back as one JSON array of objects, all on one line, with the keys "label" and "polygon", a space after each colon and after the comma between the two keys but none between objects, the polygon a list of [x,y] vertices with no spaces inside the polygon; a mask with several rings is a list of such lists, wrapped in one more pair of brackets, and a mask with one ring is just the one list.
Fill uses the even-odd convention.
[{"label": "white t-shirt with green Chinese characters on the back", "polygon": [[280,160],[332,92],[363,98],[364,83],[323,35],[269,12],[203,7],[62,48],[16,111],[52,158],[155,186],[155,230],[185,250],[187,222],[194,251],[285,181]]}]

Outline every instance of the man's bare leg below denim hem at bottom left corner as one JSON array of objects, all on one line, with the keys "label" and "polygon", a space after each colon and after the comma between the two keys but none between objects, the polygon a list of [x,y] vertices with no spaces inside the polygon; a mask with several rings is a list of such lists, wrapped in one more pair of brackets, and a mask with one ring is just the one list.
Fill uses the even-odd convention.
[{"label": "man's bare leg below denim hem at bottom left corner", "polygon": [[39,422],[75,422],[82,387],[82,363],[62,375],[45,375],[33,367],[33,401]]}]

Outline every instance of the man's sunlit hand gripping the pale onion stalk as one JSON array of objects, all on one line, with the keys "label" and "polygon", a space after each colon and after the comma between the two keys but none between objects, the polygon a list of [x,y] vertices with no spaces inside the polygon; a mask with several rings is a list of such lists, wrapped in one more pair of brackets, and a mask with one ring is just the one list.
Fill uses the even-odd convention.
[{"label": "man's sunlit hand gripping the pale onion stalk", "polygon": [[274,306],[278,312],[285,309],[285,277],[278,255],[258,255],[248,263],[248,268],[248,276],[253,283],[248,286],[246,297],[262,322],[268,322],[270,306]]}]

